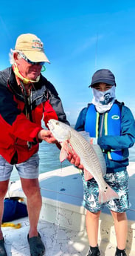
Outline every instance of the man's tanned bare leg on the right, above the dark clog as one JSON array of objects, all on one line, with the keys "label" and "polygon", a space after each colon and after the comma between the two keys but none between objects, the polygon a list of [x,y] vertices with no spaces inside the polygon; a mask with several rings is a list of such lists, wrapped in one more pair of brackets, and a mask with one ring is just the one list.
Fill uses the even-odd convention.
[{"label": "man's tanned bare leg on the right, above the dark clog", "polygon": [[30,220],[29,237],[36,237],[38,236],[37,226],[42,205],[38,179],[21,178],[21,186],[27,196],[27,211]]}]

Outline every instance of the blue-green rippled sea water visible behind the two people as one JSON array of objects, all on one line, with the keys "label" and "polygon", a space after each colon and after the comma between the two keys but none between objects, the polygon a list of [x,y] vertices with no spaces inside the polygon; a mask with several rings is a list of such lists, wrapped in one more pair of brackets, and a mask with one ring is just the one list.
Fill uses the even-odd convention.
[{"label": "blue-green rippled sea water visible behind the two people", "polygon": [[[56,147],[56,145],[49,144],[47,142],[41,142],[39,148],[40,173],[44,173],[46,171],[53,171],[71,165],[68,160],[60,163],[59,155],[60,150]],[[129,161],[135,162],[135,145],[129,149]],[[18,172],[14,168],[10,180],[15,181],[18,179]]]}]

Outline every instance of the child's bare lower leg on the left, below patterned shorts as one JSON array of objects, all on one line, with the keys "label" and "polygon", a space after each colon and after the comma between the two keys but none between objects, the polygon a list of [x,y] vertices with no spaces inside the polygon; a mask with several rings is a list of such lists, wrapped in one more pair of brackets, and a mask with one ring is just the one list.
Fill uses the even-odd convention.
[{"label": "child's bare lower leg on the left, below patterned shorts", "polygon": [[91,211],[86,212],[86,229],[89,238],[89,245],[92,247],[97,246],[99,217],[100,211],[97,213]]}]

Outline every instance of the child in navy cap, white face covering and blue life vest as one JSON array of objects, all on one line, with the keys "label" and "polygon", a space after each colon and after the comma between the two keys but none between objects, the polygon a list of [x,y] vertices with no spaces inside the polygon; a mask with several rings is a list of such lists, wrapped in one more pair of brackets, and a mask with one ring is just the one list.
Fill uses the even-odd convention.
[{"label": "child in navy cap, white face covering and blue life vest", "polygon": [[[75,125],[77,131],[88,131],[93,144],[102,148],[107,167],[105,180],[120,196],[105,205],[111,211],[117,236],[115,256],[127,256],[125,243],[128,232],[128,220],[125,211],[128,200],[128,148],[135,142],[134,116],[129,108],[118,102],[115,97],[116,82],[114,74],[108,69],[97,70],[91,79],[94,97],[87,108],[83,108]],[[100,256],[97,245],[98,223],[103,204],[98,202],[99,188],[92,178],[83,177],[83,206],[87,209],[86,229],[89,237],[89,255]],[[94,198],[90,200],[90,196]]]}]

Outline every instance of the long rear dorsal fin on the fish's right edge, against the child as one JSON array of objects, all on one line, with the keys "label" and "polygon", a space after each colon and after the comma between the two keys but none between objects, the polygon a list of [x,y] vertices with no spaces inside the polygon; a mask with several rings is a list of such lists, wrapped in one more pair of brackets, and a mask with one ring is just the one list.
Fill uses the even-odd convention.
[{"label": "long rear dorsal fin on the fish's right edge, against the child", "polygon": [[103,176],[106,174],[106,163],[105,157],[103,156],[103,151],[100,148],[100,145],[91,145],[91,148],[94,149],[95,153],[97,154],[98,160],[100,161],[101,170],[103,172]]}]

